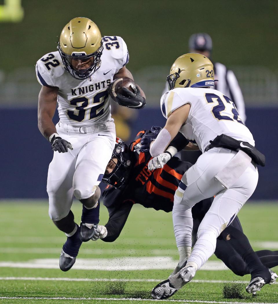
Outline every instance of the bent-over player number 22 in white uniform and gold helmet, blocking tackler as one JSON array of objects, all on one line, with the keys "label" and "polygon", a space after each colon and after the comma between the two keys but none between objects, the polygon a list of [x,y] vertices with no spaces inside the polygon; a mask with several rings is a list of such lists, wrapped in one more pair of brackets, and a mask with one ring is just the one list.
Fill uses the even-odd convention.
[{"label": "bent-over player number 22 in white uniform and gold helmet, blocking tackler", "polygon": [[[183,268],[152,291],[155,299],[166,299],[189,282],[215,251],[216,238],[235,218],[253,194],[257,181],[256,165],[264,156],[254,147],[251,132],[242,122],[234,103],[214,85],[211,61],[201,54],[185,54],[171,67],[169,91],[161,97],[161,111],[167,119],[164,129],[150,147],[154,157],[148,168],[161,168],[171,157],[165,152],[180,131],[191,143],[185,149],[200,149],[202,155],[189,168],[175,192],[173,223],[175,237],[184,238],[188,247]],[[202,199],[215,196],[202,220],[191,251],[191,208]],[[246,252],[251,282],[247,292],[256,293],[271,280],[270,272],[257,257]],[[243,257],[243,258],[244,258]]]}]

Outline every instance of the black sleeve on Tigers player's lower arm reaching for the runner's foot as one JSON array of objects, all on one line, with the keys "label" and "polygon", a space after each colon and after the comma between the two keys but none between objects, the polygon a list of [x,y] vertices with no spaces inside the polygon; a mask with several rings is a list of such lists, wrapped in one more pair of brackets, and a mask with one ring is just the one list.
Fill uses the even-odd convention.
[{"label": "black sleeve on Tigers player's lower arm reaching for the runner's foot", "polygon": [[132,206],[133,203],[131,201],[123,202],[109,216],[108,223],[105,225],[107,229],[107,236],[102,239],[104,242],[114,242],[119,237],[127,221]]}]

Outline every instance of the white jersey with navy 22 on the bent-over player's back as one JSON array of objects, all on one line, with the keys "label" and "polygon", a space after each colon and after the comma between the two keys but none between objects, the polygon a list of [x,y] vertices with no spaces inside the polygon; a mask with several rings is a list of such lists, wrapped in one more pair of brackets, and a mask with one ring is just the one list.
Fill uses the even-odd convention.
[{"label": "white jersey with navy 22 on the bent-over player's back", "polygon": [[210,88],[175,88],[162,95],[161,111],[165,118],[185,104],[190,104],[186,123],[180,132],[202,152],[217,135],[225,134],[236,140],[255,145],[253,136],[244,125],[234,103],[221,92]]}]

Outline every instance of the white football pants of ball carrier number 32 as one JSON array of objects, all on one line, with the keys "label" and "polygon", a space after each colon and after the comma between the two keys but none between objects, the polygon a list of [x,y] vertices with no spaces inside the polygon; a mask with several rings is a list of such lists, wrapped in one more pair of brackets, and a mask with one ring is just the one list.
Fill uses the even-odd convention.
[{"label": "white football pants of ball carrier number 32", "polygon": [[[80,133],[77,129],[88,133]],[[55,221],[68,215],[73,196],[87,199],[94,194],[112,156],[116,142],[114,122],[88,129],[61,122],[56,125],[59,136],[69,141],[73,150],[65,153],[55,151],[49,164],[49,216]]]}]

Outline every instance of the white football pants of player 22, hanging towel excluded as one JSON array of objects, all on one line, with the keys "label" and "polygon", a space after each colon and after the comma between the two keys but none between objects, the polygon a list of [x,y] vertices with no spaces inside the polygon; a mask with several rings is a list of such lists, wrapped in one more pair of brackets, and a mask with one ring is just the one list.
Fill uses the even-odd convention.
[{"label": "white football pants of player 22, hanging towel excluded", "polygon": [[188,259],[188,262],[195,262],[198,268],[214,253],[216,238],[232,222],[255,191],[258,182],[258,170],[252,163],[229,189],[215,178],[235,155],[236,152],[224,148],[208,150],[185,172],[175,192],[172,215],[178,247],[192,244],[191,208],[202,199],[215,195],[212,206],[199,226],[198,239]]}]

